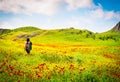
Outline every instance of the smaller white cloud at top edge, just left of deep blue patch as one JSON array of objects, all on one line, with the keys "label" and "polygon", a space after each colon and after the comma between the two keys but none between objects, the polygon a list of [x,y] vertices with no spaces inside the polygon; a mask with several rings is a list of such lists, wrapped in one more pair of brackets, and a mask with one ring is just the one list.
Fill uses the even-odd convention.
[{"label": "smaller white cloud at top edge, just left of deep blue patch", "polygon": [[67,8],[69,10],[77,8],[92,8],[94,7],[93,0],[65,0],[68,4]]}]

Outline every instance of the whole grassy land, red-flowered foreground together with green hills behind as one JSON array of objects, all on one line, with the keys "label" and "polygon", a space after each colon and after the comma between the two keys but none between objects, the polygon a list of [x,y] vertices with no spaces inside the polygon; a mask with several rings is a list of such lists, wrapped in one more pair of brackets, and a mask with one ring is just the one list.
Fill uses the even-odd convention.
[{"label": "whole grassy land, red-flowered foreground together with green hills behind", "polygon": [[[26,37],[32,41],[30,55],[24,50]],[[0,82],[119,82],[119,38],[119,33],[73,28],[2,34]]]}]

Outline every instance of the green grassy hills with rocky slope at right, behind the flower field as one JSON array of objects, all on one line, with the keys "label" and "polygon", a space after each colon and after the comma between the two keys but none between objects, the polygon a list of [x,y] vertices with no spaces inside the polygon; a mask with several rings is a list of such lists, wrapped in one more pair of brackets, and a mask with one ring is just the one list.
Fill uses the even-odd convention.
[{"label": "green grassy hills with rocky slope at right, behind the flower field", "polygon": [[30,37],[34,43],[118,45],[120,44],[119,24],[120,22],[110,31],[103,33],[93,33],[75,28],[42,30],[37,27],[26,26],[13,30],[1,29],[0,36],[12,41],[24,41],[27,37]]}]

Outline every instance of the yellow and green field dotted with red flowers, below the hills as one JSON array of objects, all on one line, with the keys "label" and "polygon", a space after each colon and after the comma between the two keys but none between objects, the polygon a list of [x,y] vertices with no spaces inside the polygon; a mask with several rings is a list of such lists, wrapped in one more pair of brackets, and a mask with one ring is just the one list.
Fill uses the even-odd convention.
[{"label": "yellow and green field dotted with red flowers, below the hills", "polygon": [[0,82],[119,82],[120,46],[0,40]]}]

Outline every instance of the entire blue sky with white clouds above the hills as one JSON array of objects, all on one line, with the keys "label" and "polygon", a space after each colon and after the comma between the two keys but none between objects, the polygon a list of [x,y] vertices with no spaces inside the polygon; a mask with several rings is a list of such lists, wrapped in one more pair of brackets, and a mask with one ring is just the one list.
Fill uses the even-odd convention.
[{"label": "entire blue sky with white clouds above the hills", "polygon": [[0,0],[0,28],[74,27],[105,32],[120,21],[120,0]]}]

